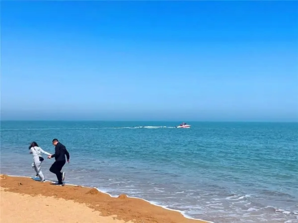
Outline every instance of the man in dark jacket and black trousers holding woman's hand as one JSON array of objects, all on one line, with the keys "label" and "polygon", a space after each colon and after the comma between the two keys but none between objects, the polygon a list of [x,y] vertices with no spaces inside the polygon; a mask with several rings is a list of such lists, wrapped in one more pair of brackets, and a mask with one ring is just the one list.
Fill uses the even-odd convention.
[{"label": "man in dark jacket and black trousers holding woman's hand", "polygon": [[58,179],[57,185],[63,185],[65,172],[61,173],[61,170],[66,163],[65,156],[67,157],[67,161],[70,162],[70,153],[57,139],[54,139],[52,143],[55,146],[55,154],[49,155],[48,158],[55,157],[55,162],[52,164],[50,171],[56,174]]}]

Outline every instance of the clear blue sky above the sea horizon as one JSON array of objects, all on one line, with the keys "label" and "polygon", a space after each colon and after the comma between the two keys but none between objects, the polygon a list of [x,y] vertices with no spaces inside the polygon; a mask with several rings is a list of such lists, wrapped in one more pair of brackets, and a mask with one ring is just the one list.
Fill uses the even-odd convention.
[{"label": "clear blue sky above the sea horizon", "polygon": [[1,1],[1,119],[298,120],[297,1]]}]

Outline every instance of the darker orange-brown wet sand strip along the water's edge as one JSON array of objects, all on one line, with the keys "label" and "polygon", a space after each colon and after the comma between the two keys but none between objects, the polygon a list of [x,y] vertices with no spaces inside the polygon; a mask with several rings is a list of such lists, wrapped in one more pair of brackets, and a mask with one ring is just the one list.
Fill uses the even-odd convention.
[{"label": "darker orange-brown wet sand strip along the water's edge", "polygon": [[[212,223],[200,219],[189,218],[179,210],[172,210],[151,203],[142,198],[120,194],[118,197],[97,188],[81,185],[51,185],[52,181],[42,183],[28,176],[12,176],[0,174],[0,187],[7,192],[30,196],[45,196],[74,201],[85,204],[101,216],[117,216],[116,219],[135,223]],[[34,190],[33,190],[34,189]]]}]

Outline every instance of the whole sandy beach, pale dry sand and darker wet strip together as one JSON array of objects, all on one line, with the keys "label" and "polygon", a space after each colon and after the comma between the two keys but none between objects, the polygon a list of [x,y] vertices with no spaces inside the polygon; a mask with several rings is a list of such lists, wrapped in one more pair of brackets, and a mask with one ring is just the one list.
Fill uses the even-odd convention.
[{"label": "whole sandy beach, pale dry sand and darker wet strip together", "polygon": [[7,175],[0,175],[0,187],[1,223],[206,223],[124,194],[113,198],[95,188]]}]

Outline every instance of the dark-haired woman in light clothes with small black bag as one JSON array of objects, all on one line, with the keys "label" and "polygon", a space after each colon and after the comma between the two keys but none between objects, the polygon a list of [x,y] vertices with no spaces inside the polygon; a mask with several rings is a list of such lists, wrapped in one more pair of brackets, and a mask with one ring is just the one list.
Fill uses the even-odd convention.
[{"label": "dark-haired woman in light clothes with small black bag", "polygon": [[38,147],[36,142],[32,142],[31,145],[29,146],[30,149],[30,154],[33,155],[33,163],[32,167],[36,171],[36,176],[39,176],[39,179],[41,182],[45,182],[45,177],[41,171],[41,163],[44,160],[44,158],[41,155],[41,152],[46,154],[46,155],[51,155],[49,152],[46,152],[42,150],[40,147]]}]

